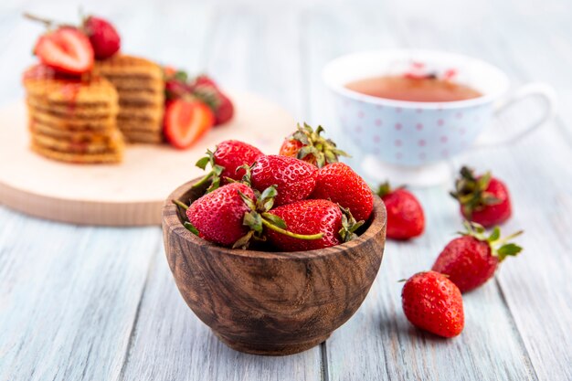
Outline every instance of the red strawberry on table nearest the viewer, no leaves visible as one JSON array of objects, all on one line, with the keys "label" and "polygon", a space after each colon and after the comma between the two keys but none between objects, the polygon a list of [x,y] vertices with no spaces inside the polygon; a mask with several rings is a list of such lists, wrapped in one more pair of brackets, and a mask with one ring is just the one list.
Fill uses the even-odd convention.
[{"label": "red strawberry on table nearest the viewer, no leaves visible", "polygon": [[418,272],[409,278],[401,302],[409,323],[430,333],[454,337],[465,325],[461,291],[439,272]]}]

